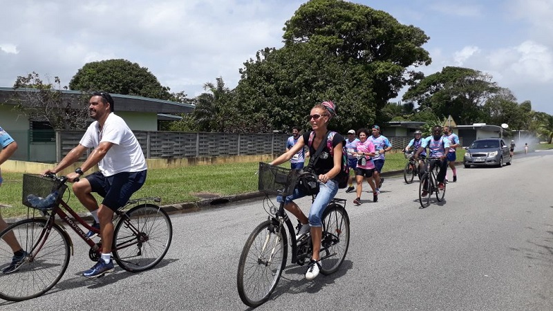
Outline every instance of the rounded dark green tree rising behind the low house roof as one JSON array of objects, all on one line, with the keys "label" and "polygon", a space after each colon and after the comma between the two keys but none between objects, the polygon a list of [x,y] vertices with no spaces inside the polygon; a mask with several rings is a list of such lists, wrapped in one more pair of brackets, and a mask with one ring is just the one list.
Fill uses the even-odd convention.
[{"label": "rounded dark green tree rising behind the low house roof", "polygon": [[82,66],[69,88],[80,91],[106,91],[122,95],[135,95],[158,100],[172,100],[170,89],[162,86],[148,68],[126,59],[108,59]]}]

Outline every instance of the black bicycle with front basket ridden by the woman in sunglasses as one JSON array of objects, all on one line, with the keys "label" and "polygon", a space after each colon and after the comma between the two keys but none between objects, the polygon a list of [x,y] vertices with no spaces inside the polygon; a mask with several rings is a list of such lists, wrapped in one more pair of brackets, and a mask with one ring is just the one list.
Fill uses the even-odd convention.
[{"label": "black bicycle with front basket ridden by the woman in sunglasses", "polygon": [[[265,303],[277,287],[286,265],[288,245],[292,247],[292,263],[304,265],[311,258],[310,234],[303,235],[297,241],[292,221],[284,210],[284,203],[281,202],[276,207],[269,199],[274,194],[292,194],[300,176],[297,170],[259,163],[259,191],[265,193],[263,208],[269,218],[258,225],[247,238],[236,275],[238,295],[250,307],[255,308]],[[336,272],[348,252],[350,220],[345,206],[346,200],[335,198],[324,211],[321,274]]]}]

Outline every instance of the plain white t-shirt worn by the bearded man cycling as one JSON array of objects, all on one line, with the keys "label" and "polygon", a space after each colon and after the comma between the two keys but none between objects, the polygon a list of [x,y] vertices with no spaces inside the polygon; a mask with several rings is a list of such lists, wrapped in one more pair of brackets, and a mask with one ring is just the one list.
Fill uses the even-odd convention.
[{"label": "plain white t-shirt worn by the bearded man cycling", "polygon": [[86,148],[96,148],[100,142],[113,143],[106,156],[98,163],[104,176],[147,169],[140,144],[122,117],[110,113],[102,131],[99,126],[97,121],[92,122],[79,144]]}]

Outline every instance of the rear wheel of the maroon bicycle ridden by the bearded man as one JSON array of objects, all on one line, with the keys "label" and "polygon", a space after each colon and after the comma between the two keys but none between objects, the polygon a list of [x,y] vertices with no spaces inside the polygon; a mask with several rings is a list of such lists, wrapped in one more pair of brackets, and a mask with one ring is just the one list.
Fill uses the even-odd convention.
[{"label": "rear wheel of the maroon bicycle ridden by the bearded man", "polygon": [[129,272],[157,265],[167,254],[173,225],[167,213],[153,204],[137,205],[125,213],[113,232],[113,258]]}]

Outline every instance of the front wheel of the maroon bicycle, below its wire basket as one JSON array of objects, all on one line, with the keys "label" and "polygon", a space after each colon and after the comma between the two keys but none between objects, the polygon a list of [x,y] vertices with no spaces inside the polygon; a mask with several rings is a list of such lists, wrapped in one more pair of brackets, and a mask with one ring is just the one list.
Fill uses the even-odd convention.
[{"label": "front wheel of the maroon bicycle, below its wire basket", "polygon": [[25,256],[14,263],[11,247],[0,242],[0,298],[24,301],[41,296],[62,279],[69,265],[71,240],[59,225],[48,232],[44,219],[21,220],[0,232],[0,238],[13,238],[12,234]]}]

